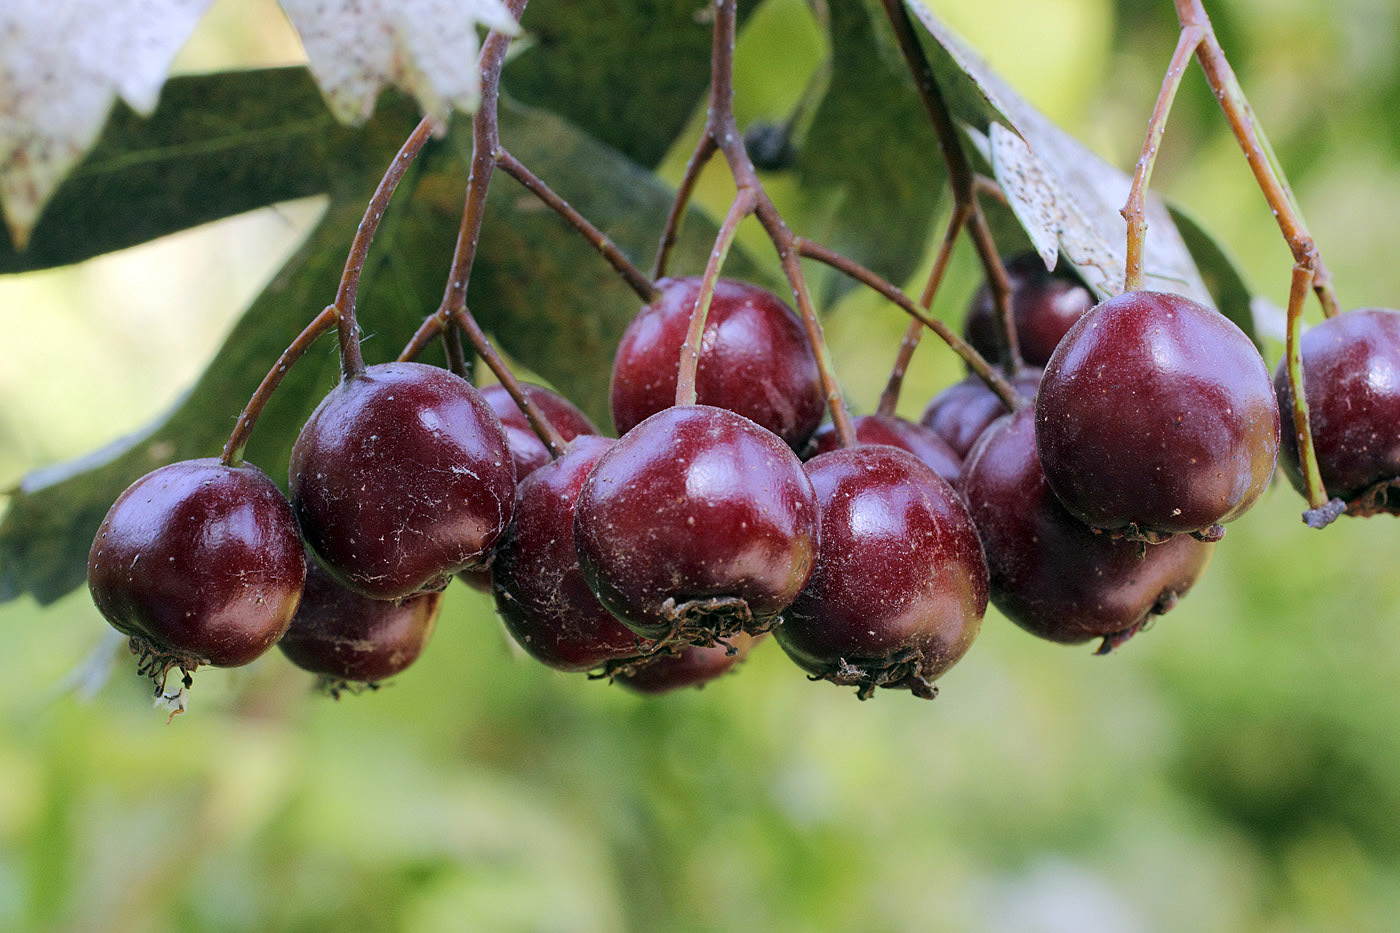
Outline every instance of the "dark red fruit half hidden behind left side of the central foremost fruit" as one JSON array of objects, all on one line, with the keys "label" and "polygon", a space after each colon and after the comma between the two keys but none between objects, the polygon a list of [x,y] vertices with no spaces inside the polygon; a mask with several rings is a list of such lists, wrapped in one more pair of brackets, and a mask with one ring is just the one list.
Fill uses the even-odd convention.
[{"label": "dark red fruit half hidden behind left side of the central foremost fruit", "polygon": [[588,588],[574,548],[578,490],[613,443],[585,434],[526,476],[496,544],[491,579],[505,629],[532,657],[561,671],[591,671],[650,647]]}]

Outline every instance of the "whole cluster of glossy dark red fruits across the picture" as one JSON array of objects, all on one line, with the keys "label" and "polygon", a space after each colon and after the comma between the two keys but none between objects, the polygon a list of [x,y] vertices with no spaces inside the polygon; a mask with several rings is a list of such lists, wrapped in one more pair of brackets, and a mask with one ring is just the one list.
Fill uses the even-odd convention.
[{"label": "whole cluster of glossy dark red fruits across the picture", "polygon": [[[535,658],[644,692],[703,684],[771,630],[813,679],[932,696],[988,598],[1035,635],[1110,650],[1175,605],[1268,485],[1292,424],[1285,367],[1271,381],[1239,328],[1187,298],[1095,305],[1035,255],[1007,268],[1018,410],[969,377],[921,423],[855,419],[841,447],[819,429],[802,321],[729,280],[697,403],[678,405],[701,283],[662,279],[615,360],[619,438],[525,387],[550,450],[501,385],[370,366],[302,429],[290,503],[218,459],[122,493],[90,555],[92,597],[158,693],[174,668],[188,686],[200,664],[273,644],[332,691],[377,684],[419,657],[455,576],[494,595]],[[1005,360],[991,322],[983,290],[965,332]],[[1327,495],[1400,511],[1400,312],[1329,318],[1302,353]],[[1302,490],[1296,451],[1285,431]]]}]

